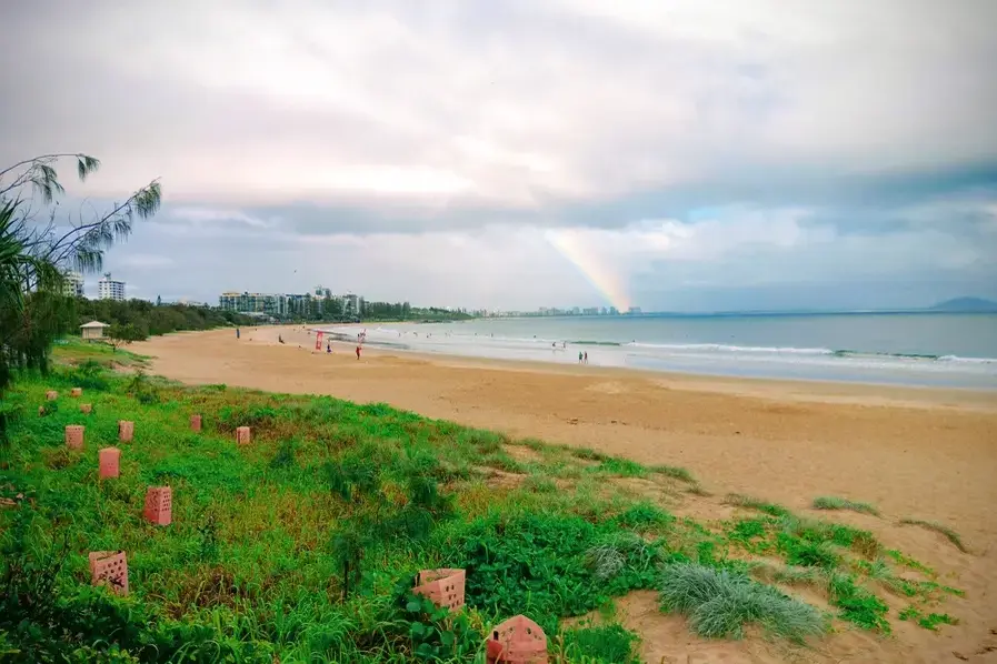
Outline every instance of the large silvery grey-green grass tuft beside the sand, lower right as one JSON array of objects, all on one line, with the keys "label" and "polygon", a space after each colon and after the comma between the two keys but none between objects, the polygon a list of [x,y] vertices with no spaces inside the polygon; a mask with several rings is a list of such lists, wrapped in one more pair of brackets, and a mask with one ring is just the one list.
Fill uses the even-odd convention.
[{"label": "large silvery grey-green grass tuft beside the sand, lower right", "polygon": [[664,610],[686,615],[692,630],[708,638],[740,638],[745,625],[757,624],[770,634],[800,642],[827,628],[815,607],[729,570],[696,563],[669,565],[660,593]]}]

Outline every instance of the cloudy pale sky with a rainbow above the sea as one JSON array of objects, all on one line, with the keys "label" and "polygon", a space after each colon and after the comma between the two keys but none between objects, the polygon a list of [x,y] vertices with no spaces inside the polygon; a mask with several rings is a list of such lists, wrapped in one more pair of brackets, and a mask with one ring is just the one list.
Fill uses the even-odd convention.
[{"label": "cloudy pale sky with a rainbow above the sea", "polygon": [[104,260],[130,296],[997,299],[993,0],[13,0],[0,24],[0,170],[99,158],[60,171],[60,219],[162,185]]}]

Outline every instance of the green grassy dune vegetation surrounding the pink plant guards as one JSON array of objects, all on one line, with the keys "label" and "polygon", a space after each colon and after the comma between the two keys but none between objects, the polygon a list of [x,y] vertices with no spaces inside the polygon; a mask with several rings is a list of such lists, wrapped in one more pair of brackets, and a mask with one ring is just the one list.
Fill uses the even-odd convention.
[{"label": "green grassy dune vegetation surrounding the pink plant guards", "polygon": [[[106,348],[62,345],[57,358],[76,363],[21,376],[4,405],[17,414],[0,450],[0,648],[12,661],[478,662],[489,627],[525,613],[560,661],[636,662],[638,635],[609,611],[634,590],[658,590],[707,636],[756,624],[792,641],[828,624],[789,595],[805,583],[840,618],[883,632],[877,587],[913,606],[957,592],[868,532],[778,505],[745,499],[761,514],[676,519],[662,501],[689,500],[681,469],[385,404],[187,388],[109,371],[141,359]],[[48,389],[59,400],[46,402]],[[119,419],[136,422],[133,442],[117,443]],[[76,423],[83,451],[62,444]],[[240,447],[242,425],[252,443]],[[121,476],[99,481],[107,445],[122,450]],[[173,490],[167,527],[141,517],[159,484]],[[128,552],[128,597],[89,585],[98,550]],[[764,575],[757,557],[782,565]],[[416,572],[440,566],[467,571],[459,614],[410,592]],[[926,579],[889,586],[899,569]],[[609,617],[565,621],[591,612]]]}]

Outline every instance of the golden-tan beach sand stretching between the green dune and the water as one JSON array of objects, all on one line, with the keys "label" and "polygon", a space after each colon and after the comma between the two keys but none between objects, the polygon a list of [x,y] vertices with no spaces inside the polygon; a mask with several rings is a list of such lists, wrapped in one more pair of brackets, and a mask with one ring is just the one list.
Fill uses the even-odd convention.
[{"label": "golden-tan beach sand stretching between the green dune and the water", "polygon": [[[285,344],[277,343],[281,334]],[[728,492],[800,513],[820,495],[877,505],[883,517],[821,513],[874,531],[966,591],[939,612],[960,624],[934,633],[896,621],[893,636],[844,630],[816,650],[762,638],[711,642],[662,616],[652,598],[620,603],[658,663],[997,663],[997,394],[871,385],[754,381],[538,363],[416,355],[333,343],[315,352],[301,326],[172,334],[136,343],[152,371],[193,384],[386,402],[430,417],[518,437],[592,447],[644,463],[689,469],[711,497],[689,496],[678,514],[724,517]],[[960,553],[905,517],[946,524]],[[906,603],[887,596],[894,608]],[[957,653],[958,655],[954,654]]]}]

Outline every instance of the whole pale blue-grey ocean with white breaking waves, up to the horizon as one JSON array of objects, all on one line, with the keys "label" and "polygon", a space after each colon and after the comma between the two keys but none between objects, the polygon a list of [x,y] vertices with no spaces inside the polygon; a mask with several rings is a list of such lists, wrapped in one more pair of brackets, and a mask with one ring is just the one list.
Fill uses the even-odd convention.
[{"label": "whole pale blue-grey ocean with white breaking waves, up to the horizon", "polygon": [[997,390],[997,314],[989,313],[477,319],[371,324],[366,343],[560,364],[588,352],[594,366]]}]

